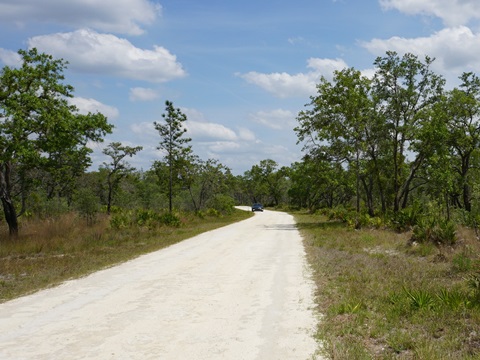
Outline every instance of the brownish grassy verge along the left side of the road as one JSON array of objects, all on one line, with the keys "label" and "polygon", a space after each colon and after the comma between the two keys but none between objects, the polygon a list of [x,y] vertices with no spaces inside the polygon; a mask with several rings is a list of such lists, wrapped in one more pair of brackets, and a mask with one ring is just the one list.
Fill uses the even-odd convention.
[{"label": "brownish grassy verge along the left side of the road", "polygon": [[[16,240],[0,239],[0,302],[159,250],[202,232],[252,216],[180,214],[180,226],[112,229],[107,216],[93,225],[75,214],[22,222]],[[0,228],[2,234],[8,230]],[[4,235],[5,236],[5,235]]]}]

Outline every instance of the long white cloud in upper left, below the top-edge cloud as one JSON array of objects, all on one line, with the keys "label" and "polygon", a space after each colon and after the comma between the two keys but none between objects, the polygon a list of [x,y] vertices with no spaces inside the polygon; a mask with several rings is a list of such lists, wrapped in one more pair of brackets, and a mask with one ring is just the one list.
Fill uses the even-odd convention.
[{"label": "long white cloud in upper left, below the top-edge cloud", "polygon": [[126,39],[89,29],[35,36],[28,45],[69,61],[69,67],[80,72],[149,82],[165,82],[186,75],[176,56],[163,47],[143,50]]}]

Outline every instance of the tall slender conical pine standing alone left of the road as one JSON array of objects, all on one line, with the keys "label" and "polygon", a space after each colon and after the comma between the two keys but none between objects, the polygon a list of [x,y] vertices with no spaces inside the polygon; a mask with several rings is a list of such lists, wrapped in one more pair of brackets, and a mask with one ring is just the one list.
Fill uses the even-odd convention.
[{"label": "tall slender conical pine standing alone left of the road", "polygon": [[[183,123],[187,120],[187,116],[180,109],[175,109],[171,101],[165,102],[165,113],[162,114],[163,123],[154,122],[155,129],[158,131],[161,140],[158,146],[159,150],[164,151],[165,163],[168,167],[168,209],[172,212],[173,185],[177,178],[174,179],[175,170],[180,170],[182,160],[185,160],[191,153],[191,146],[186,145],[191,141],[190,138],[183,137],[187,129],[183,127]],[[159,165],[159,164],[157,164]]]}]

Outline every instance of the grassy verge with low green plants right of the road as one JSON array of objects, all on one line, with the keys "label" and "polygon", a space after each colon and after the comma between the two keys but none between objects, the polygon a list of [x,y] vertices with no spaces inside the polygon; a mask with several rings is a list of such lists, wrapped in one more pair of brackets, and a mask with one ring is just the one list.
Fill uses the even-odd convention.
[{"label": "grassy verge with low green plants right of the road", "polygon": [[352,230],[295,214],[314,269],[318,338],[330,359],[480,359],[480,242]]}]

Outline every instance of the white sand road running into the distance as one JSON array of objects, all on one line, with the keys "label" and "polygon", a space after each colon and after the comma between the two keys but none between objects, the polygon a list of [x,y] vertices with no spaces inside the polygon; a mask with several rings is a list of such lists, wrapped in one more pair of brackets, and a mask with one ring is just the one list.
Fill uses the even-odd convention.
[{"label": "white sand road running into the distance", "polygon": [[293,217],[274,211],[0,304],[0,359],[313,359]]}]

